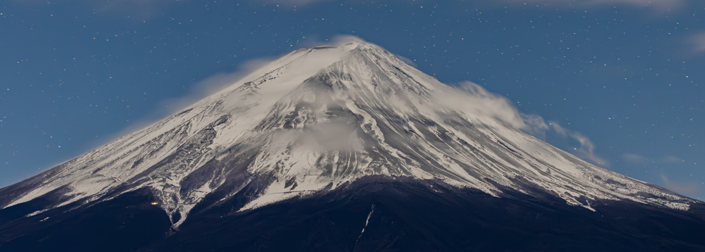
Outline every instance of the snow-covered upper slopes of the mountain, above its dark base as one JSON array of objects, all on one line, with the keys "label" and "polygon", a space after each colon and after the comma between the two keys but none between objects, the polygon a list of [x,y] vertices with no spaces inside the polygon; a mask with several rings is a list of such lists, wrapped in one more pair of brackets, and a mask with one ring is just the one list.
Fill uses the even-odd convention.
[{"label": "snow-covered upper slopes of the mountain, above its dark base", "polygon": [[369,175],[494,196],[546,191],[590,209],[604,199],[694,203],[443,99],[459,94],[374,44],[299,49],[157,124],[0,189],[0,207],[51,195],[55,208],[152,188],[178,227],[209,194],[226,200],[256,183],[246,210]]}]

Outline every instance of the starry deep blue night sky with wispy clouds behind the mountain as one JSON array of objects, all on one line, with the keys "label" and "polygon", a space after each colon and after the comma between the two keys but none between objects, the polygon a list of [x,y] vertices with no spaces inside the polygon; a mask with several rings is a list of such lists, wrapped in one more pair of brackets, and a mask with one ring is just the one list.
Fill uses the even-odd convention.
[{"label": "starry deep blue night sky with wispy clouds behind the mountain", "polygon": [[357,35],[569,130],[548,143],[705,198],[702,1],[486,2],[2,1],[0,186],[166,116],[252,60]]}]

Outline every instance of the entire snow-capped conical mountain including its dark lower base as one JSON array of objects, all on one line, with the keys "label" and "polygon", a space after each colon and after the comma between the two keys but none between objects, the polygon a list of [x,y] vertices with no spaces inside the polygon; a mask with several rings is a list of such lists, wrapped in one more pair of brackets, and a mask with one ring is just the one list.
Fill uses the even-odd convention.
[{"label": "entire snow-capped conical mountain including its dark lower base", "polygon": [[299,49],[0,189],[0,251],[705,251],[704,203],[596,167],[374,44]]}]

